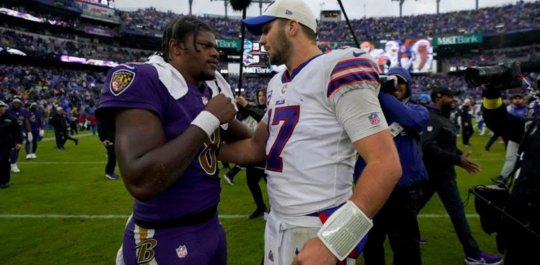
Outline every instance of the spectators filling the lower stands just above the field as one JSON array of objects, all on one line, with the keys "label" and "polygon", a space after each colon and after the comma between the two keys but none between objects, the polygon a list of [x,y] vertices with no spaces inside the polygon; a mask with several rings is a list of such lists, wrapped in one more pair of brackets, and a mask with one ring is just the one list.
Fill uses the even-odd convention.
[{"label": "spectators filling the lower stands just above the field", "polygon": [[[532,86],[538,73],[524,73],[525,79]],[[421,94],[429,95],[434,86],[448,86],[463,91],[461,100],[469,98],[476,101],[481,99],[481,89],[469,89],[465,79],[457,75],[416,75],[411,87],[412,98]],[[238,75],[227,77],[233,91],[238,91]],[[105,81],[105,73],[88,70],[68,70],[61,68],[27,67],[22,65],[0,65],[0,100],[9,101],[18,95],[31,101],[38,101],[42,106],[52,106],[54,103],[67,98],[75,105],[89,105],[99,101],[99,93]],[[242,79],[241,92],[246,98],[253,98],[254,92],[264,89],[270,77],[247,76]],[[508,96],[515,93],[527,93],[519,89],[508,91]],[[253,99],[254,100],[254,99]],[[85,109],[85,107],[79,107]]]}]

